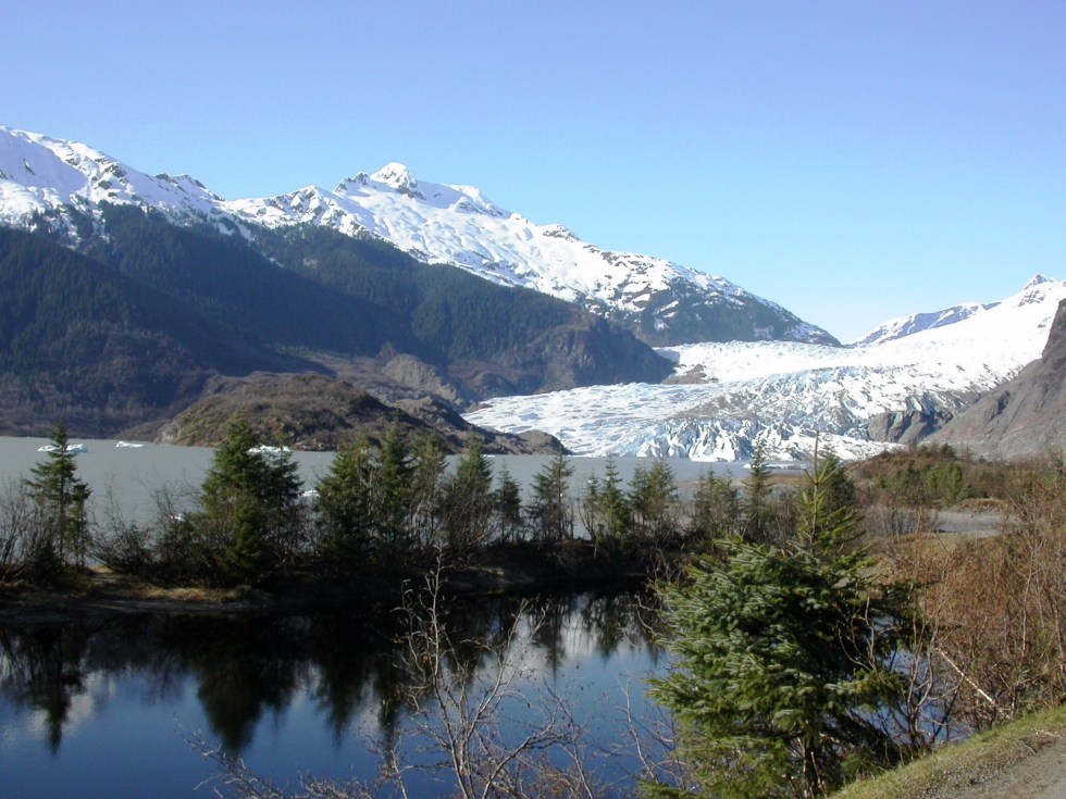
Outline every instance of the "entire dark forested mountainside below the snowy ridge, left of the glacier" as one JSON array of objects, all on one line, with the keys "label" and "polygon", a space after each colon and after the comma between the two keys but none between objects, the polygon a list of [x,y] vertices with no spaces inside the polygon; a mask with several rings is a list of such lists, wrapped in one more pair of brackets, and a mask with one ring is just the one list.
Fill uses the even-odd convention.
[{"label": "entire dark forested mountainside below the snowy ridge, left of the glacier", "polygon": [[[268,258],[243,236],[131,204],[66,212],[80,254],[0,227],[7,432],[65,419],[79,435],[113,434],[188,404],[214,374],[343,370],[402,397],[433,394],[418,377],[431,373],[447,399],[469,401],[670,370],[574,305],[387,245],[290,228],[263,232]],[[391,370],[398,358],[407,367]]]}]

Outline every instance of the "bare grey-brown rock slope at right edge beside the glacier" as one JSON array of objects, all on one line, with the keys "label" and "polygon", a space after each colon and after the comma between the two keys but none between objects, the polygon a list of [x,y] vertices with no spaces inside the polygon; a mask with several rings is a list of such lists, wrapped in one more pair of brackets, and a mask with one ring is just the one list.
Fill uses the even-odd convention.
[{"label": "bare grey-brown rock slope at right edge beside the glacier", "polygon": [[1066,450],[1066,300],[1058,304],[1040,360],[929,440],[994,458]]}]

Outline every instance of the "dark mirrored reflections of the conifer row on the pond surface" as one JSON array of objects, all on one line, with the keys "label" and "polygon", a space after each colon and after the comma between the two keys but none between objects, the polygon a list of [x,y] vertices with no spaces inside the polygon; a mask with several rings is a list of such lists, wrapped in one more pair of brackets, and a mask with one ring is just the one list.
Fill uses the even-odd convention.
[{"label": "dark mirrored reflections of the conifer row on the pond surface", "polygon": [[[618,670],[612,659],[635,656],[650,665],[657,657],[630,594],[455,601],[442,617],[455,644],[449,665],[467,679],[498,667],[493,651],[516,625],[529,636],[528,665],[551,676],[567,663],[587,662],[599,667],[586,669],[586,681],[612,681]],[[332,739],[334,748],[349,742],[350,731],[368,726],[387,747],[411,712],[407,700],[419,678],[400,644],[405,619],[396,611],[358,608],[320,615],[115,615],[0,625],[0,706],[8,706],[0,707],[0,717],[10,714],[22,720],[16,726],[40,729],[53,761],[64,757],[64,733],[76,704],[87,708],[77,724],[91,728],[103,708],[117,703],[135,717],[172,713],[186,696],[195,696],[208,737],[235,754],[252,746],[264,724],[271,728],[266,720],[275,726],[307,723],[302,711],[294,710],[303,704],[313,708],[317,734]],[[106,688],[102,699],[89,696],[94,686],[129,677],[137,679],[136,697]],[[586,687],[595,692],[611,686]],[[41,723],[28,724],[27,716]],[[168,757],[190,759],[175,738]],[[0,763],[9,746],[0,740]],[[20,762],[20,767],[29,766]]]}]

